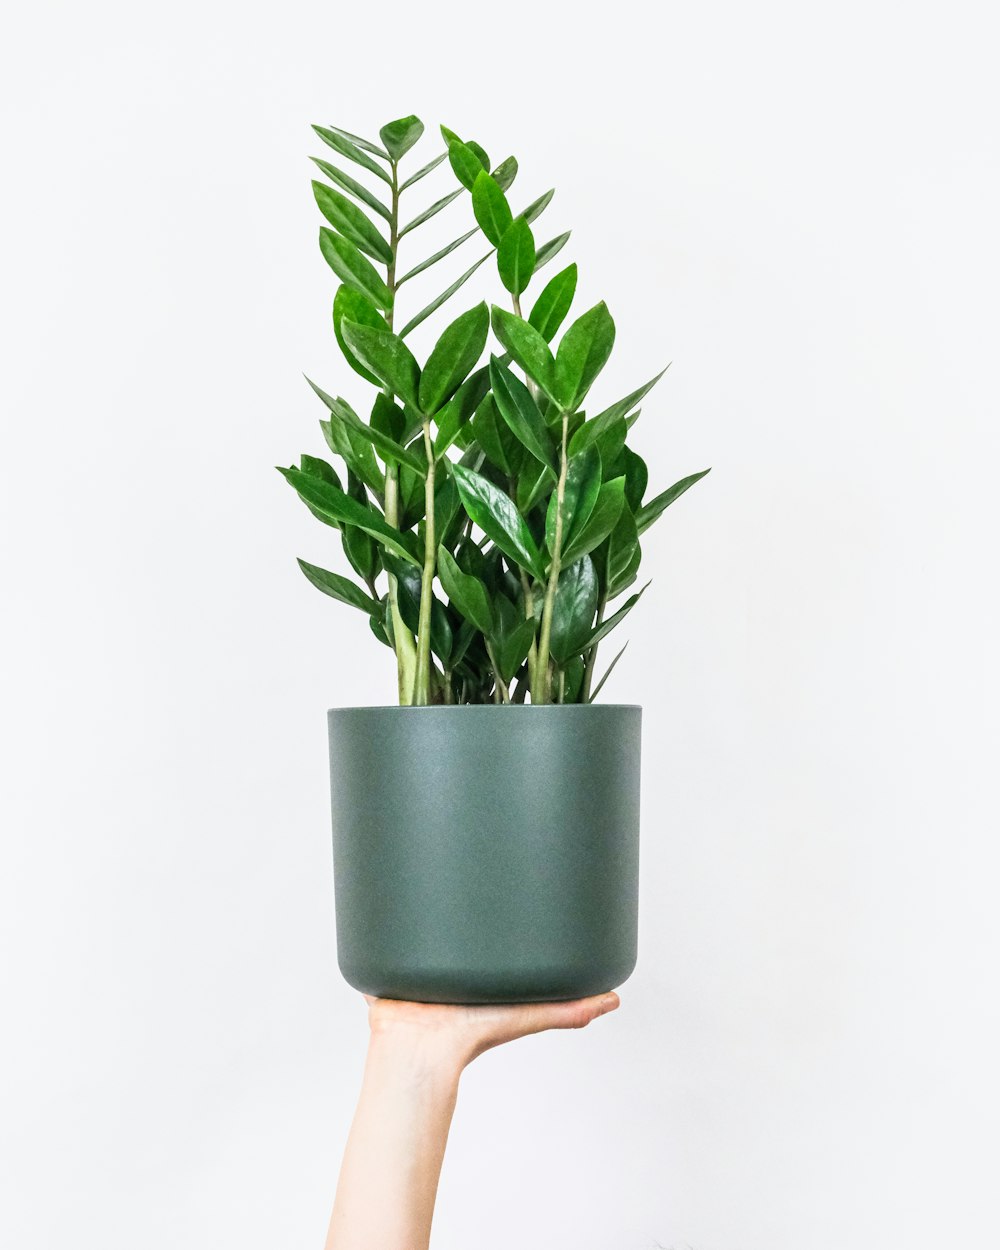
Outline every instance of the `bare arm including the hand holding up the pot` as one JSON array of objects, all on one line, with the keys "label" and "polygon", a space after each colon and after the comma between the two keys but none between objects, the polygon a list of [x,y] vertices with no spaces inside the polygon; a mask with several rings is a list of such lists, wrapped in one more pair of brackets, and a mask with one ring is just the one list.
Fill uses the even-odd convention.
[{"label": "bare arm including the hand holding up the pot", "polygon": [[462,1069],[504,1041],[580,1029],[616,994],[461,1008],[368,999],[371,1039],[326,1250],[426,1250]]}]

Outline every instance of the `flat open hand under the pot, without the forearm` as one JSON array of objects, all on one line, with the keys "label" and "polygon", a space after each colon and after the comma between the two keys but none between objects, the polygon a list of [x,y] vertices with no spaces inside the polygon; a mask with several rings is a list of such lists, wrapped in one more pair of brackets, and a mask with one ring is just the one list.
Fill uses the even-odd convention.
[{"label": "flat open hand under the pot, without the forearm", "polygon": [[505,1041],[546,1029],[582,1029],[619,1006],[614,990],[568,1002],[518,1002],[464,1006],[404,1002],[365,995],[372,1041],[402,1042],[465,1068],[478,1055]]}]

